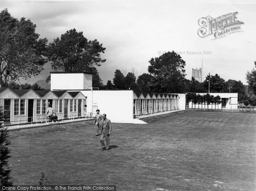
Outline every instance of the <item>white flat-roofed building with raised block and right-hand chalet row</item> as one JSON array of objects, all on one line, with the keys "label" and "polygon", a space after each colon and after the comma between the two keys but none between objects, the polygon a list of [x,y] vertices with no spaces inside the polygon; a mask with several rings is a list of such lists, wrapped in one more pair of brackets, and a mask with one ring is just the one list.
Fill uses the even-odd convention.
[{"label": "white flat-roofed building with raised block and right-hand chalet row", "polygon": [[[99,90],[97,87],[92,87],[92,74],[87,72],[51,72],[51,90],[52,91],[79,91],[87,98],[86,115],[95,116],[96,110],[99,109],[100,113],[107,114],[107,118],[113,122],[120,123],[141,123],[140,120],[134,119],[135,107],[140,110],[139,115],[149,114],[146,107],[151,106],[149,100],[154,96],[144,97],[143,94],[138,98],[134,97],[133,90]],[[168,95],[157,93],[157,107],[156,112],[167,111]],[[176,95],[176,96],[175,96]],[[173,94],[172,98],[175,103],[172,105],[173,109],[169,110],[185,110],[186,99],[185,94]],[[138,99],[138,101],[134,101]],[[170,101],[171,101],[170,99]],[[143,103],[144,105],[136,105],[136,103]],[[144,108],[145,107],[145,108]]]}]

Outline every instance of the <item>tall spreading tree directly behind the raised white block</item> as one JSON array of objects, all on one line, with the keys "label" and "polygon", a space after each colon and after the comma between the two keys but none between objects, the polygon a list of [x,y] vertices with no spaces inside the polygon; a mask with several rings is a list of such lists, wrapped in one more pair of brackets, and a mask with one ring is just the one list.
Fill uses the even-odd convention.
[{"label": "tall spreading tree directly behind the raised white block", "polygon": [[61,38],[56,38],[48,47],[48,58],[52,69],[64,72],[92,72],[93,87],[102,86],[102,80],[96,67],[106,59],[101,58],[106,48],[96,39],[88,41],[83,32],[70,29]]}]

